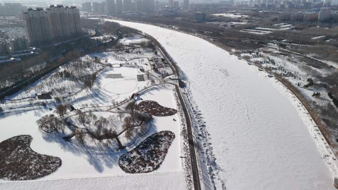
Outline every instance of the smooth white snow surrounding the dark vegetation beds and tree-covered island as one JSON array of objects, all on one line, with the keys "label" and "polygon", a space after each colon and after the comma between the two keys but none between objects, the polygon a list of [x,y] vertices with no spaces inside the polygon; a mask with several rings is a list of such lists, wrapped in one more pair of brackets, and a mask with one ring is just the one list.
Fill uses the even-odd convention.
[{"label": "smooth white snow surrounding the dark vegetation beds and tree-covered island", "polygon": [[[152,90],[145,92],[140,95],[140,98],[143,100],[153,100],[157,101],[163,106],[169,108],[177,109],[176,101],[173,95],[173,87],[154,87]],[[35,190],[36,187],[42,186],[39,188],[44,188],[44,186],[54,186],[56,184],[63,185],[63,183],[82,183],[84,179],[87,179],[86,186],[85,184],[79,184],[79,187],[84,190],[89,190],[94,187],[92,184],[98,184],[98,182],[112,182],[117,184],[118,189],[122,187],[127,189],[132,189],[136,187],[136,184],[142,184],[138,181],[143,181],[144,190],[149,190],[149,187],[157,189],[156,185],[159,182],[153,182],[153,180],[147,181],[143,179],[143,175],[136,175],[139,177],[133,176],[133,174],[126,174],[119,167],[118,161],[119,157],[125,153],[122,152],[87,152],[85,149],[72,146],[69,143],[66,143],[59,137],[53,135],[46,135],[42,133],[37,124],[38,120],[42,115],[50,114],[51,111],[47,109],[37,109],[36,111],[30,111],[22,114],[11,115],[5,118],[0,119],[1,133],[0,141],[8,139],[16,135],[31,135],[33,141],[31,148],[35,152],[42,154],[53,155],[60,157],[62,160],[61,167],[54,173],[43,177],[41,180],[35,181],[26,181],[26,182],[7,182],[0,181],[0,190],[14,190],[20,189],[20,187],[27,186],[25,190]],[[175,119],[175,120],[173,120]],[[181,152],[180,152],[180,122],[178,115],[172,115],[167,117],[156,117],[154,116],[153,126],[147,135],[137,139],[137,142],[142,142],[147,136],[154,134],[159,131],[169,130],[175,134],[177,138],[174,139],[171,146],[169,147],[168,154],[160,166],[160,168],[155,171],[155,173],[161,173],[160,175],[147,174],[144,178],[158,179],[163,180],[164,178],[170,178],[170,180],[177,181],[177,184],[173,184],[173,187],[178,190],[185,189],[185,175],[183,173],[182,164],[181,164]],[[134,147],[128,147],[127,150],[131,150]],[[111,176],[111,178],[94,178],[99,176]],[[71,178],[71,179],[65,179]],[[75,178],[75,179],[72,179]],[[79,179],[84,178],[84,179]],[[126,179],[124,179],[126,178]],[[55,180],[55,179],[65,179]],[[128,181],[130,180],[130,181]],[[137,181],[135,183],[132,180]],[[128,182],[127,182],[128,181]],[[155,180],[156,181],[156,180]],[[171,189],[168,186],[169,181],[163,181],[164,184],[160,185],[161,189]],[[55,183],[55,184],[54,184]],[[122,183],[122,184],[121,184]],[[167,184],[166,184],[167,183]],[[149,186],[145,186],[148,184]],[[69,184],[68,184],[69,185]],[[154,185],[154,186],[152,186]],[[69,188],[70,186],[68,186]],[[38,188],[38,189],[39,189]],[[56,188],[55,190],[64,190],[64,188]],[[41,190],[42,190],[41,189]],[[48,188],[49,189],[49,188]],[[52,189],[52,188],[51,188]],[[108,190],[109,186],[103,186],[102,190]],[[150,188],[151,189],[151,188]]]}]

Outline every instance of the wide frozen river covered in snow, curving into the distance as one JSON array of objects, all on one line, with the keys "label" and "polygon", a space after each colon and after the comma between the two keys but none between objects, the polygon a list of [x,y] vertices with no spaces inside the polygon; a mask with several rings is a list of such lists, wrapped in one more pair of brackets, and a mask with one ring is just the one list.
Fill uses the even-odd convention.
[{"label": "wide frozen river covered in snow, curving into the distance", "polygon": [[[334,190],[308,117],[275,78],[201,38],[117,22],[156,38],[186,75],[194,113],[210,134],[204,152],[216,158],[217,189]],[[202,126],[195,132],[203,136]]]}]

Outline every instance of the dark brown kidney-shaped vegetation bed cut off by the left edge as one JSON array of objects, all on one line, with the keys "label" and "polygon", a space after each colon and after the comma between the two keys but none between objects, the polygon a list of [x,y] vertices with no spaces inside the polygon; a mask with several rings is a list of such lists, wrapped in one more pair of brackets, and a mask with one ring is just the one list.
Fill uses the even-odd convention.
[{"label": "dark brown kidney-shaped vegetation bed cut off by the left edge", "polygon": [[34,180],[55,172],[61,159],[34,152],[30,135],[15,136],[0,143],[0,179]]}]

